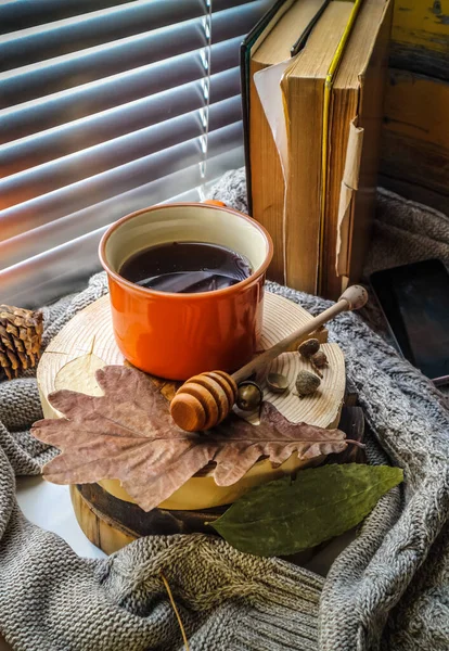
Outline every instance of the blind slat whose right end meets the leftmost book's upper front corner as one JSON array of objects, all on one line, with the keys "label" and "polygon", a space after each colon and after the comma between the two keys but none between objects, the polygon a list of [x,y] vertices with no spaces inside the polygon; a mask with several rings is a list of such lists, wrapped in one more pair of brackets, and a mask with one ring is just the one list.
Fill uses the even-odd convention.
[{"label": "blind slat whose right end meets the leftmost book's upper front corner", "polygon": [[[214,74],[239,64],[241,37],[211,47]],[[0,144],[204,78],[201,51],[0,111]]]}]

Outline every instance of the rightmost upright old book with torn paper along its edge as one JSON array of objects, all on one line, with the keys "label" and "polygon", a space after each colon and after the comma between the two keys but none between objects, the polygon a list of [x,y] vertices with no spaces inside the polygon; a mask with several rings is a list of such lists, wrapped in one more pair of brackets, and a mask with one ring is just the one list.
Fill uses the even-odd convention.
[{"label": "rightmost upright old book with torn paper along its edge", "polygon": [[[319,291],[360,280],[375,205],[393,3],[365,0],[332,88]],[[345,174],[346,173],[346,174]]]}]

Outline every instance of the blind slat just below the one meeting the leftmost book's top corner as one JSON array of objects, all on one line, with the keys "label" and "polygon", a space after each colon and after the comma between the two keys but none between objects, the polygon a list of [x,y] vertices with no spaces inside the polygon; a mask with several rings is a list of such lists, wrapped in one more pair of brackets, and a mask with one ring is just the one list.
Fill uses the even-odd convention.
[{"label": "blind slat just below the one meeting the leftmost book's top corner", "polygon": [[[240,92],[240,68],[210,76],[210,104]],[[204,106],[203,80],[184,84],[129,104],[95,113],[61,127],[3,144],[0,170],[3,178],[24,169],[61,158],[101,142],[132,133],[170,117]]]}]

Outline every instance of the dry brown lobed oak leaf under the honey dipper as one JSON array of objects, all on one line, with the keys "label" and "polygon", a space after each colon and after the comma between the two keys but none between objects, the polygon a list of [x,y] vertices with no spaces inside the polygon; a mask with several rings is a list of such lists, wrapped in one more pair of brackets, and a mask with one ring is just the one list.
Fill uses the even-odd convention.
[{"label": "dry brown lobed oak leaf under the honey dipper", "polygon": [[238,482],[260,457],[273,465],[293,452],[302,459],[343,451],[339,430],[291,423],[264,403],[260,425],[232,413],[207,433],[189,433],[172,421],[168,401],[140,371],[108,366],[97,371],[104,396],[56,391],[49,396],[64,419],[33,426],[39,441],[62,454],[47,463],[43,476],[55,484],[120,480],[137,503],[150,511],[170,497],[208,462],[219,486]]}]

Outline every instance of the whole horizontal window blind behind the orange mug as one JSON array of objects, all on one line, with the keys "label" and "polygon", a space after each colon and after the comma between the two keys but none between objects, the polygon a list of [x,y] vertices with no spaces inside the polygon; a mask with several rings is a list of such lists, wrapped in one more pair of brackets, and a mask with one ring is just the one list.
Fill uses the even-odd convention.
[{"label": "whole horizontal window blind behind the orange mug", "polygon": [[111,222],[243,164],[239,48],[270,4],[0,4],[0,303],[72,291]]}]

